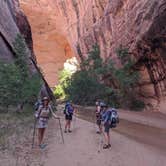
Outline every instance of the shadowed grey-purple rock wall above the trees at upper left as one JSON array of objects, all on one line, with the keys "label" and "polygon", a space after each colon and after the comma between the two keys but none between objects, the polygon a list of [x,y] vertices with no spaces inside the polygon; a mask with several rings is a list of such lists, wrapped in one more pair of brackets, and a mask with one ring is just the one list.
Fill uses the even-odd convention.
[{"label": "shadowed grey-purple rock wall above the trees at upper left", "polygon": [[[19,8],[17,0],[1,0],[0,1],[0,59],[12,61],[14,52],[12,43],[16,36],[22,34],[27,44],[29,57],[34,57],[33,42],[31,37],[31,29],[26,16]],[[28,62],[30,69],[33,71],[35,67]]]}]

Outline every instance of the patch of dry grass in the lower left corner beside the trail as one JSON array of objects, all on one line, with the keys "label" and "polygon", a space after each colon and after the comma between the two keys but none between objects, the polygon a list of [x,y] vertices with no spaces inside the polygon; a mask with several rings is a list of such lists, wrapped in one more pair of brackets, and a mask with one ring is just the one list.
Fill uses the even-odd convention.
[{"label": "patch of dry grass in the lower left corner beside the trail", "polygon": [[[33,109],[0,113],[0,161],[3,165],[28,166],[33,133]],[[23,161],[24,160],[24,161]]]}]

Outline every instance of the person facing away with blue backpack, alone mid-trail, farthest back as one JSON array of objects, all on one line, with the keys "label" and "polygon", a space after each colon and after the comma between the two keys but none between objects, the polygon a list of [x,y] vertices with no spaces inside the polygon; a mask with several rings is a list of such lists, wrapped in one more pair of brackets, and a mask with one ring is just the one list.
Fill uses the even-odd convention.
[{"label": "person facing away with blue backpack, alone mid-trail, farthest back", "polygon": [[65,114],[65,119],[66,119],[66,124],[65,124],[65,133],[67,133],[67,131],[69,133],[71,133],[71,121],[72,121],[72,117],[73,117],[73,113],[74,113],[74,108],[72,106],[72,104],[70,102],[67,102],[65,105],[65,110],[64,110],[64,114]]}]

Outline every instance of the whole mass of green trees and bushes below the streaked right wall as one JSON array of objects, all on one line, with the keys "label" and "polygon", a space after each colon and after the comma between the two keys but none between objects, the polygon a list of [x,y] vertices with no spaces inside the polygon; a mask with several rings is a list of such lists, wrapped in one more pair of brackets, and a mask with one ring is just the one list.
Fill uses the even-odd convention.
[{"label": "whole mass of green trees and bushes below the streaked right wall", "polygon": [[120,66],[116,66],[111,59],[104,62],[99,46],[94,45],[88,58],[80,64],[81,70],[67,78],[61,74],[61,88],[57,89],[60,92],[63,90],[63,94],[77,104],[91,105],[100,98],[116,107],[143,107],[143,102],[135,95],[139,73],[133,69],[134,61],[129,51],[120,46],[116,53]]}]

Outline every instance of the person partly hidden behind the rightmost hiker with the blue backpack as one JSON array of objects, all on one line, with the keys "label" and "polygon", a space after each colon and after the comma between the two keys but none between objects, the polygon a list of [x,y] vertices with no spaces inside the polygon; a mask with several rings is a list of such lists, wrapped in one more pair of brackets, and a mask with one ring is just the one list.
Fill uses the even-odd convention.
[{"label": "person partly hidden behind the rightmost hiker with the blue backpack", "polygon": [[99,100],[96,101],[96,124],[98,126],[98,131],[96,132],[97,134],[102,133],[102,125],[101,125],[101,120],[102,120],[102,108],[101,105],[103,103],[100,102]]}]

